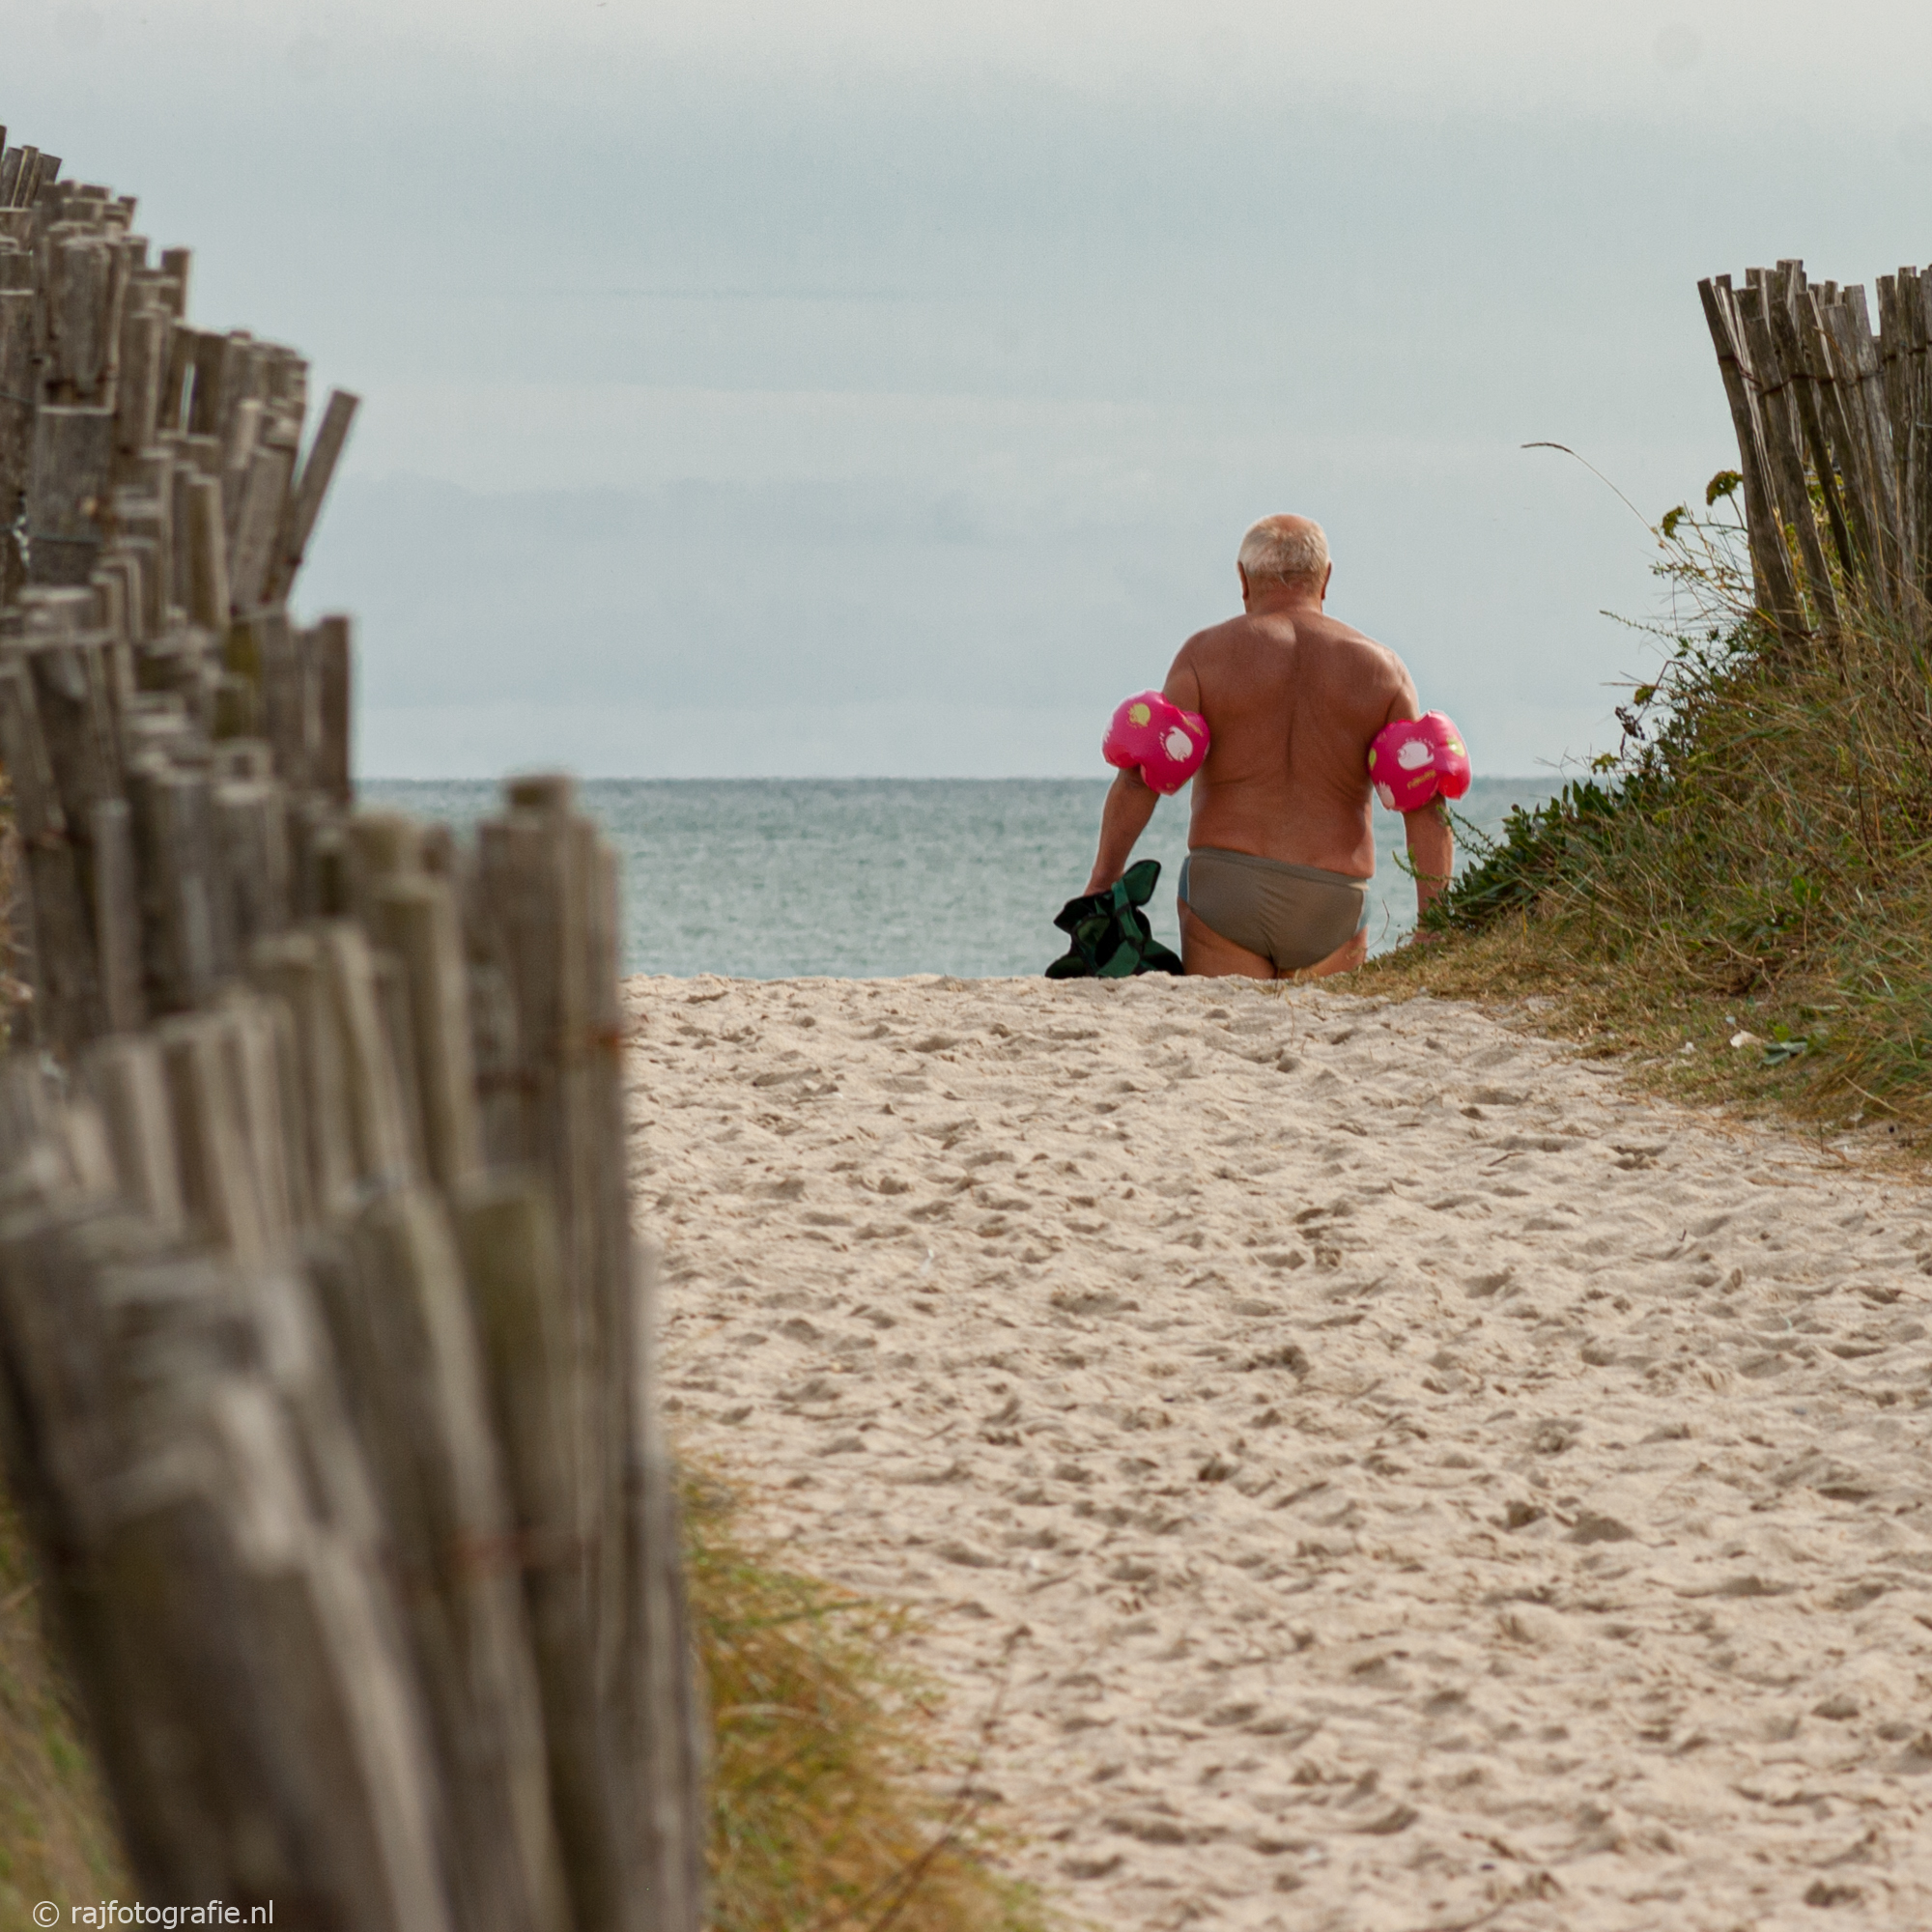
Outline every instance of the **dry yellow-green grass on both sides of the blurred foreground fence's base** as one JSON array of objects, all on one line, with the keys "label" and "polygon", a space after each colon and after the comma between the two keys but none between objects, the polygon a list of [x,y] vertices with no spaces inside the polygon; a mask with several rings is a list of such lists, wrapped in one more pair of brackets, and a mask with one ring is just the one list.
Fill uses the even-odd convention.
[{"label": "dry yellow-green grass on both sides of the blurred foreground fence's base", "polygon": [[[972,1768],[931,1747],[904,1619],[775,1563],[717,1482],[686,1486],[697,1648],[717,1725],[711,1932],[1045,1932],[987,1862]],[[0,1497],[0,1926],[129,1899],[112,1806]]]}]

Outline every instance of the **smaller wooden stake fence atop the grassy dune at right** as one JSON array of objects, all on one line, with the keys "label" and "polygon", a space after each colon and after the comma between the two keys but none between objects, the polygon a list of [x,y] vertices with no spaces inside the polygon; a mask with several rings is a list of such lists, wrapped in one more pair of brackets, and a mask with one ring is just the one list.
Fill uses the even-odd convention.
[{"label": "smaller wooden stake fence atop the grassy dune at right", "polygon": [[1932,611],[1932,269],[1859,286],[1801,261],[1698,284],[1737,429],[1758,609],[1787,639],[1843,622],[1849,589]]}]

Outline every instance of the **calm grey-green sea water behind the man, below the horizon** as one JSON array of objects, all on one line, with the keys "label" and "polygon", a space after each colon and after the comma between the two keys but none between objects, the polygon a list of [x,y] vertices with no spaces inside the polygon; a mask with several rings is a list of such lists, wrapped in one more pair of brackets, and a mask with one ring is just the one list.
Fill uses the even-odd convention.
[{"label": "calm grey-green sea water behind the man, below the horizon", "polygon": [[[1478,779],[1459,811],[1495,829],[1553,790]],[[1105,779],[593,779],[583,808],[622,862],[626,972],[980,978],[1037,974],[1066,951],[1053,914],[1086,885],[1105,794]],[[359,796],[464,831],[498,788],[379,781]],[[1161,862],[1148,912],[1175,949],[1186,823],[1184,798],[1163,798],[1134,854]],[[1414,925],[1401,842],[1378,808],[1376,952]]]}]

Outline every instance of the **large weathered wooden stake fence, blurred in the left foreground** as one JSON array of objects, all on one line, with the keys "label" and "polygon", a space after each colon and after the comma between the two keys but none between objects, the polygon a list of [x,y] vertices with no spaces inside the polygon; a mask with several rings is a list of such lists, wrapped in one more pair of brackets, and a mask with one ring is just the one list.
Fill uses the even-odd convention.
[{"label": "large weathered wooden stake fence, blurred in the left foreground", "polygon": [[0,149],[0,1435],[141,1897],[696,1932],[612,854],[354,810],[355,400]]}]

